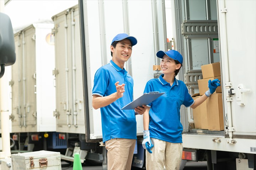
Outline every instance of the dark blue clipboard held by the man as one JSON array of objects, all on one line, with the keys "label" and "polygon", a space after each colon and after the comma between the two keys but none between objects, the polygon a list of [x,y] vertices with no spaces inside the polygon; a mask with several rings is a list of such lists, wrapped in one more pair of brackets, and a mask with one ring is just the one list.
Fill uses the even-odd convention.
[{"label": "dark blue clipboard held by the man", "polygon": [[124,106],[121,110],[130,110],[130,109],[134,109],[138,106],[142,105],[147,105],[151,102],[153,102],[154,100],[156,100],[158,97],[160,97],[161,95],[163,95],[163,93],[159,93],[157,91],[153,91],[153,92],[149,92],[149,93],[144,93],[142,96],[140,96],[139,98],[137,98],[136,100],[130,102],[129,104],[127,104],[126,106]]}]

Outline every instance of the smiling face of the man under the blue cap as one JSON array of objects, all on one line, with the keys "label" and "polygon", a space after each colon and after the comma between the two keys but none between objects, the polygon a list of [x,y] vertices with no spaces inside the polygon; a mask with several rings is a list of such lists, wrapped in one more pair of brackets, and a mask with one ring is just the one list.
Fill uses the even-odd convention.
[{"label": "smiling face of the man under the blue cap", "polygon": [[123,39],[117,43],[116,48],[111,46],[110,50],[113,52],[112,60],[114,62],[124,63],[132,55],[132,44],[130,40]]}]

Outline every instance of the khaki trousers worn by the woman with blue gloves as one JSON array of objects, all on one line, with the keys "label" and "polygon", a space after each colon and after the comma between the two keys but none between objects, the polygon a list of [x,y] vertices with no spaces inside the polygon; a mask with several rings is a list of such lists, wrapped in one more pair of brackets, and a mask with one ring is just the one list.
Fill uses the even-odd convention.
[{"label": "khaki trousers worn by the woman with blue gloves", "polygon": [[182,157],[182,143],[170,143],[151,138],[153,153],[146,151],[146,170],[179,170]]}]

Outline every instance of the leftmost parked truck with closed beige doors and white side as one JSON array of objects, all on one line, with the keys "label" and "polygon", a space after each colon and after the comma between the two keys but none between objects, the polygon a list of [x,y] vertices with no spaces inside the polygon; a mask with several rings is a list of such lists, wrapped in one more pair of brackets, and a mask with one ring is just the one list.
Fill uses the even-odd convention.
[{"label": "leftmost parked truck with closed beige doors and white side", "polygon": [[[47,132],[56,131],[54,36],[52,23],[36,23],[15,33],[16,62],[12,66],[11,115],[15,149],[32,151]],[[45,137],[42,141],[46,140]],[[43,145],[42,145],[43,146]],[[46,141],[44,148],[46,149]]]}]

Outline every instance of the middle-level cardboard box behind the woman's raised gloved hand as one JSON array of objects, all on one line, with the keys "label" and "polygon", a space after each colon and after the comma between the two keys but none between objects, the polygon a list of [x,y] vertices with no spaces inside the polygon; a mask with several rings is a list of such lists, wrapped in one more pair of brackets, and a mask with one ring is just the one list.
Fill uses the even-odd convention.
[{"label": "middle-level cardboard box behind the woman's raised gloved hand", "polygon": [[197,80],[200,96],[204,95],[205,92],[209,89],[209,87],[208,87],[208,81],[209,81],[209,80],[214,80],[214,79],[219,79],[219,80],[220,80],[220,86],[217,87],[216,91],[215,91],[213,94],[222,93],[221,77],[212,77],[212,78],[208,78],[208,79]]}]

